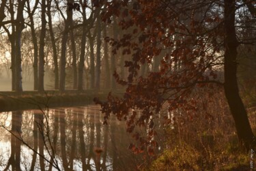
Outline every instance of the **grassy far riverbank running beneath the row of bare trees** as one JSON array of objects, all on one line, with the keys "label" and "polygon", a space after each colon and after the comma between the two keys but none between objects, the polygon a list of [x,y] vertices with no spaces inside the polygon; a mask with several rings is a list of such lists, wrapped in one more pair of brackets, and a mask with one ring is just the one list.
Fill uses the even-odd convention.
[{"label": "grassy far riverbank running beneath the row of bare trees", "polygon": [[[111,90],[87,90],[87,91],[24,91],[16,93],[14,91],[0,91],[0,112],[14,110],[53,108],[61,106],[83,106],[93,104],[94,97],[106,99]],[[114,91],[115,94],[122,94],[122,90]]]}]

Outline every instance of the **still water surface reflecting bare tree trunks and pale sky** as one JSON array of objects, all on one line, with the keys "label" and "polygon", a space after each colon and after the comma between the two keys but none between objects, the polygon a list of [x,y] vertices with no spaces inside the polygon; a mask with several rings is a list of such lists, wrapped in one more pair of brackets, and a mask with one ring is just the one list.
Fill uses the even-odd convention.
[{"label": "still water surface reflecting bare tree trunks and pale sky", "polygon": [[0,149],[6,149],[0,170],[137,170],[146,164],[147,157],[128,150],[125,124],[113,117],[102,125],[100,115],[98,106],[1,113],[12,135],[0,131]]}]

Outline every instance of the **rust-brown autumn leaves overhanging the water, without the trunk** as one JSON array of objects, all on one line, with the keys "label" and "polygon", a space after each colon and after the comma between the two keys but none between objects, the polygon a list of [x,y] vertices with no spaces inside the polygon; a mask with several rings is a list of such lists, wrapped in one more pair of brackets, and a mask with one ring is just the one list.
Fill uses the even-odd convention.
[{"label": "rust-brown autumn leaves overhanging the water, without the trunk", "polygon": [[[111,113],[119,120],[124,119],[127,131],[135,132],[134,137],[143,149],[143,146],[156,146],[154,127],[158,121],[170,124],[168,114],[178,110],[186,115],[201,110],[200,95],[210,100],[225,82],[223,65],[227,56],[227,35],[223,11],[225,5],[235,3],[108,2],[102,18],[111,22],[112,16],[117,16],[125,34],[118,40],[106,37],[106,41],[115,47],[113,53],[122,47],[123,54],[131,55],[132,60],[124,63],[129,71],[126,80],[114,74],[117,82],[127,87],[124,96],[114,97],[110,93],[107,102],[95,99],[102,106],[105,123]],[[144,77],[139,75],[142,65],[152,67],[158,59],[160,65],[156,71]],[[135,127],[147,127],[149,131],[146,136],[138,135]]]}]

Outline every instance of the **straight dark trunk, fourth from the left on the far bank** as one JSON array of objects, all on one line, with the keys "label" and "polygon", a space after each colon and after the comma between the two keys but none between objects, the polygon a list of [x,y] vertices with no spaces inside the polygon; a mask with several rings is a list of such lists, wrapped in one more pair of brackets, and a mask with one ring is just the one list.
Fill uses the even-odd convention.
[{"label": "straight dark trunk, fourth from the left on the far bank", "polygon": [[46,0],[42,0],[42,29],[40,34],[38,91],[44,91],[44,37],[46,35]]}]

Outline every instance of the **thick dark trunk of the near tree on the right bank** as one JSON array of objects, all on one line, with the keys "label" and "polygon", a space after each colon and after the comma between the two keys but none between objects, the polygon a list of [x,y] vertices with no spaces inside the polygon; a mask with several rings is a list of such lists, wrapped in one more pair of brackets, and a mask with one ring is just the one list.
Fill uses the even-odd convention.
[{"label": "thick dark trunk of the near tree on the right bank", "polygon": [[244,104],[239,95],[237,80],[237,47],[235,17],[236,1],[225,0],[225,95],[231,114],[235,121],[238,139],[246,150],[250,149],[253,142],[253,131],[248,121],[248,116]]}]

